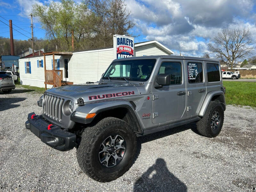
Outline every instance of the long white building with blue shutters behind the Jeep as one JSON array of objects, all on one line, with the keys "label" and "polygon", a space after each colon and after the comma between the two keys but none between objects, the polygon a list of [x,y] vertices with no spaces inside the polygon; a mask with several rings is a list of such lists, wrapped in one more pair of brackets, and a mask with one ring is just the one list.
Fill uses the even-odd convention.
[{"label": "long white building with blue shutters behind the Jeep", "polygon": [[[81,84],[99,81],[113,61],[113,47],[97,50],[86,50],[55,54],[55,69],[62,73],[62,84]],[[49,53],[50,54],[50,53]],[[134,44],[134,56],[171,55],[173,52],[154,41]],[[52,54],[45,56],[46,69],[44,69],[44,56],[19,59],[20,84],[44,87],[45,70],[52,70]],[[47,84],[47,88],[52,85]]]}]

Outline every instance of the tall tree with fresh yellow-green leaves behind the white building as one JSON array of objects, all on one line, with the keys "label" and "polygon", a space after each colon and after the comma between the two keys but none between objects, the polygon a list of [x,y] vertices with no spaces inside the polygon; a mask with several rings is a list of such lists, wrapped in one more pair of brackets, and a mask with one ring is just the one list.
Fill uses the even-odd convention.
[{"label": "tall tree with fresh yellow-green leaves behind the white building", "polygon": [[71,31],[87,23],[90,14],[84,3],[73,0],[61,0],[49,4],[33,5],[33,15],[38,17],[46,30],[46,37],[52,40],[57,51],[71,50]]}]

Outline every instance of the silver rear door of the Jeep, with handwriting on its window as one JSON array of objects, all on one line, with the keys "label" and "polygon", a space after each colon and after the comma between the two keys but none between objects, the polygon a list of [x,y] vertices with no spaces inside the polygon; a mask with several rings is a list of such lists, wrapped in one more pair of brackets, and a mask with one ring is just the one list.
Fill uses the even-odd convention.
[{"label": "silver rear door of the Jeep, with handwriting on its window", "polygon": [[187,68],[187,116],[199,112],[206,95],[204,61],[185,60]]}]

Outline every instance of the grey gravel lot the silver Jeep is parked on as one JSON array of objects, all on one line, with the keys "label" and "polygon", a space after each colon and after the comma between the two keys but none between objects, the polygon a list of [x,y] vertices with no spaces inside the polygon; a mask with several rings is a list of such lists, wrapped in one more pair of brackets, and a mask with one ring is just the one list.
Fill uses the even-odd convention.
[{"label": "grey gravel lot the silver Jeep is parked on", "polygon": [[100,183],[81,171],[76,149],[57,151],[25,129],[28,113],[41,113],[40,96],[22,88],[0,94],[0,191],[255,191],[254,109],[228,105],[213,139],[195,124],[140,137],[131,169]]}]

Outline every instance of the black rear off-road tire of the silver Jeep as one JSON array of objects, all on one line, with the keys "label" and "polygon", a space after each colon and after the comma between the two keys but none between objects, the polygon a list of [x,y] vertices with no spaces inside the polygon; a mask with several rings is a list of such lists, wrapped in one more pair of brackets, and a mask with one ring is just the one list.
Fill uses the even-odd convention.
[{"label": "black rear off-road tire of the silver Jeep", "polygon": [[[212,130],[211,119],[215,111],[219,112],[220,121],[217,129]],[[216,101],[211,101],[204,114],[204,117],[196,123],[197,131],[205,137],[216,137],[222,129],[223,121],[224,121],[224,110],[221,103]]]}]

